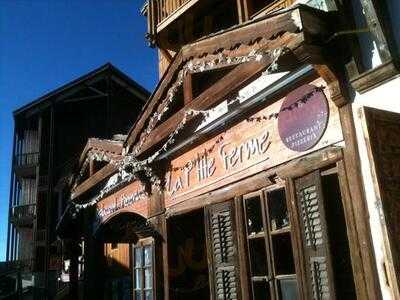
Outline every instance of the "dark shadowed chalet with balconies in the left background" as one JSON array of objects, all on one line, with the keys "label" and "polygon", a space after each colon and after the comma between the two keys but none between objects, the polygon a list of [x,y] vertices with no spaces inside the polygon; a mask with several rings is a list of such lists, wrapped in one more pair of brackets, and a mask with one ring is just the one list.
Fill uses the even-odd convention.
[{"label": "dark shadowed chalet with balconies in the left background", "polygon": [[93,147],[102,141],[122,145],[109,140],[121,140],[118,134],[126,134],[148,96],[105,64],[14,111],[7,261],[20,267],[24,299],[65,294],[65,247],[55,227],[69,200],[77,154],[92,136],[99,138]]}]

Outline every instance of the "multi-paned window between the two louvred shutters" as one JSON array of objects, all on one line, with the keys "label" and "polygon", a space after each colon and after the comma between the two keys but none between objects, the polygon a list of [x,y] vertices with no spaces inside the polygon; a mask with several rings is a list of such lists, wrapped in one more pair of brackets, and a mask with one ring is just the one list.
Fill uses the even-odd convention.
[{"label": "multi-paned window between the two louvred shutters", "polygon": [[243,201],[252,299],[297,299],[285,190],[258,191]]}]

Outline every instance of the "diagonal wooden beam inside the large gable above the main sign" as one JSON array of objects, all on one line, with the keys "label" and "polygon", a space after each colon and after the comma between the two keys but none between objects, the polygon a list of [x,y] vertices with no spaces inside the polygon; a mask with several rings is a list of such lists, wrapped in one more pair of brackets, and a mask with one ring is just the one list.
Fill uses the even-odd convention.
[{"label": "diagonal wooden beam inside the large gable above the main sign", "polygon": [[156,143],[164,140],[172,131],[174,131],[188,109],[204,110],[212,107],[214,104],[217,104],[221,98],[226,97],[233,90],[240,88],[255,74],[265,69],[270,62],[271,61],[268,60],[260,63],[247,63],[233,69],[220,81],[208,88],[192,102],[185,105],[184,108],[175,113],[171,118],[156,127],[147,137],[146,142],[139,151],[139,155],[150,149]]}]

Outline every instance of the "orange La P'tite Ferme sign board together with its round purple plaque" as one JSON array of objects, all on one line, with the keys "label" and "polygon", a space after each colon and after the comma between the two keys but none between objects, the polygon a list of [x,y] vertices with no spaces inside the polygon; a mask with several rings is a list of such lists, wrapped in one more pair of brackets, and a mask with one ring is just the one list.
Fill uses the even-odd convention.
[{"label": "orange La P'tite Ferme sign board together with its round purple plaque", "polygon": [[[252,166],[262,164],[263,169],[270,168],[309,151],[342,141],[338,111],[328,101],[329,94],[325,96],[325,91],[318,89],[315,95],[311,93],[312,88],[324,84],[322,79],[317,79],[303,90],[289,94],[289,101],[284,102],[285,99],[281,99],[272,103],[253,115],[251,120],[241,121],[172,160],[165,179],[166,207],[190,195],[228,184],[229,178]],[[297,116],[307,111],[310,116],[304,124],[300,117],[296,117],[295,122],[283,122],[282,128],[286,131],[282,130],[284,134],[281,136],[278,129],[281,110],[283,105],[293,102],[291,99],[294,96],[309,99],[297,105],[290,114],[296,116],[297,109]],[[265,117],[271,114],[279,114],[279,117]],[[287,118],[288,114],[282,116]],[[251,174],[246,173],[247,175]]]}]

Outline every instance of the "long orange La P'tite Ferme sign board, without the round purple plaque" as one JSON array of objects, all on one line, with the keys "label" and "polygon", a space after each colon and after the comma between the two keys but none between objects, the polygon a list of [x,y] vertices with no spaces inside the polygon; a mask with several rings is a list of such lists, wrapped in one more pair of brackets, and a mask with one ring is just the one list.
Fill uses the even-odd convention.
[{"label": "long orange La P'tite Ferme sign board, without the round purple plaque", "polygon": [[[322,79],[311,84],[314,87],[326,86]],[[327,89],[320,93],[325,93],[329,99]],[[317,141],[313,140],[316,144],[304,152],[288,148],[279,135],[278,118],[270,117],[278,115],[283,101],[272,103],[251,118],[172,160],[165,180],[165,207],[343,140],[337,107],[326,100],[324,111],[329,113],[329,118],[321,115],[320,121],[326,120],[327,124],[321,125],[323,130],[316,131]]]}]

